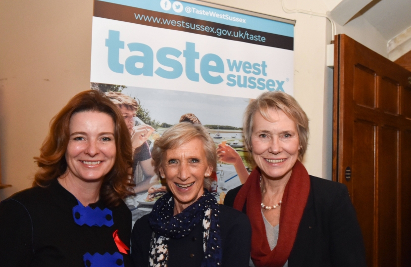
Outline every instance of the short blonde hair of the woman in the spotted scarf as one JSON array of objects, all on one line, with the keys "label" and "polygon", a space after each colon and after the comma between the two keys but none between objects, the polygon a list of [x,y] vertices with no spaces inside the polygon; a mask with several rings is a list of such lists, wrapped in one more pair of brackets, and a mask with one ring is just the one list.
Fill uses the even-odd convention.
[{"label": "short blonde hair of the woman in the spotted scarf", "polygon": [[[208,130],[201,124],[192,124],[189,122],[181,122],[164,132],[160,138],[155,140],[152,158],[154,172],[159,173],[159,169],[162,165],[165,152],[169,149],[174,149],[180,145],[191,141],[194,138],[199,138],[203,142],[203,149],[205,151],[205,157],[207,159],[207,165],[215,172],[217,166],[217,152]],[[210,189],[211,178],[204,179],[205,188]]]}]

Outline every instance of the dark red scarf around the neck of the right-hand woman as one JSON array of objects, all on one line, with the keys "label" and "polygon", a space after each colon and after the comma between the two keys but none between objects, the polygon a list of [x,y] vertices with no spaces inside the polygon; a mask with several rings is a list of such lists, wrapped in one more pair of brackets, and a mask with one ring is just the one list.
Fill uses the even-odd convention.
[{"label": "dark red scarf around the neck of the right-hand woman", "polygon": [[257,267],[283,267],[290,256],[307,204],[309,176],[303,164],[297,161],[284,189],[278,242],[271,250],[261,215],[260,175],[258,168],[250,174],[234,200],[234,208],[242,211],[247,201],[247,216],[252,228],[251,258],[254,264]]}]

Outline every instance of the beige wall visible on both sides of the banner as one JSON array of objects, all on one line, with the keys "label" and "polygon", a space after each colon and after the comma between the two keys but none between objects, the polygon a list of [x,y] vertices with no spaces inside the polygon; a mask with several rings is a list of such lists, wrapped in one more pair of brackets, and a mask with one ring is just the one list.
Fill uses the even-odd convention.
[{"label": "beige wall visible on both sides of the banner", "polygon": [[[325,18],[287,14],[280,0],[213,0],[233,7],[296,19],[295,97],[310,119],[304,160],[311,175],[331,178],[332,70],[325,66],[331,38]],[[325,13],[321,0],[286,0],[288,8]],[[52,116],[90,85],[92,0],[0,1],[0,199],[27,188],[33,157]],[[351,35],[384,54],[387,42],[360,17],[337,33]],[[384,43],[385,42],[385,43]]]}]

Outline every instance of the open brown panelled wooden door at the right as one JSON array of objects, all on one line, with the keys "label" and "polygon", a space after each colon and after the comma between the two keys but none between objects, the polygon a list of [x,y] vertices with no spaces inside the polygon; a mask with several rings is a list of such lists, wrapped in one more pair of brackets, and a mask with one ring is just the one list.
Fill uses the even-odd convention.
[{"label": "open brown panelled wooden door at the right", "polygon": [[338,35],[333,179],[347,185],[367,266],[411,266],[411,72]]}]

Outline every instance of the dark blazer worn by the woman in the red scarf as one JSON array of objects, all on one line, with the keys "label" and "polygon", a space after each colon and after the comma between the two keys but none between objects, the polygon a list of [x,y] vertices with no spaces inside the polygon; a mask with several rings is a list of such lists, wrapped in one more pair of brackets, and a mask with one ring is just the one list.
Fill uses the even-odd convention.
[{"label": "dark blazer worn by the woman in the red scarf", "polygon": [[[360,225],[347,187],[326,179],[309,178],[308,201],[288,267],[365,267]],[[225,205],[233,206],[240,188],[228,191]]]}]

